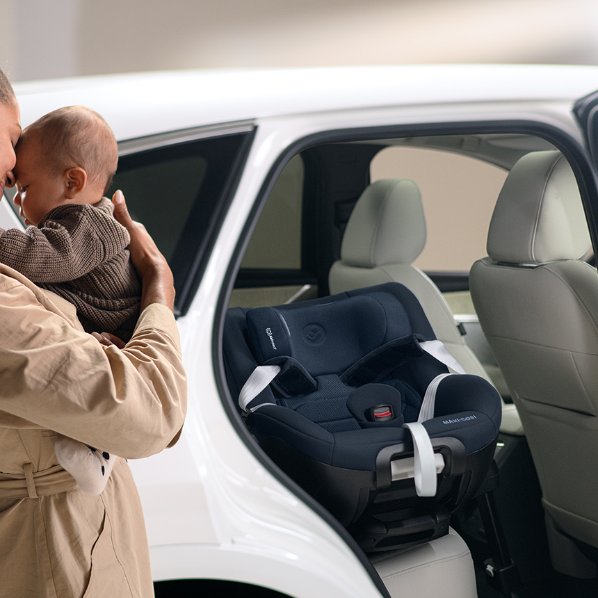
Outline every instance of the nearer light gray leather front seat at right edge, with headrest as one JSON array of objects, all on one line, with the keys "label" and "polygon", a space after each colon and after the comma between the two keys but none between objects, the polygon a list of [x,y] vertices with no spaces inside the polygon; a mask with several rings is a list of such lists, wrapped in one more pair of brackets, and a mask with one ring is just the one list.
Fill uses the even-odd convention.
[{"label": "nearer light gray leather front seat at right edge, with headrest", "polygon": [[510,171],[489,257],[469,275],[538,471],[553,565],[579,577],[596,572],[577,541],[598,547],[598,275],[580,259],[589,248],[569,163],[533,152]]}]

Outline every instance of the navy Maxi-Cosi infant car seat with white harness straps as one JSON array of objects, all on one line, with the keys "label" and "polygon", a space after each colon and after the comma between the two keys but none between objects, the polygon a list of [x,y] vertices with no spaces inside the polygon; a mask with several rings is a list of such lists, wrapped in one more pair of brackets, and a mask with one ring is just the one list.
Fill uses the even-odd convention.
[{"label": "navy Maxi-Cosi infant car seat with white harness straps", "polygon": [[484,480],[500,396],[462,371],[402,284],[229,309],[223,348],[261,447],[364,549],[444,535]]}]

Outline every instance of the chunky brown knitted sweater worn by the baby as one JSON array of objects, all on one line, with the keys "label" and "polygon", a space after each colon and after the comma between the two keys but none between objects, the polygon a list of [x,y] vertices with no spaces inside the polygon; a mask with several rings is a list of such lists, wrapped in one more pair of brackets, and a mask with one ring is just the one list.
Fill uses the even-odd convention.
[{"label": "chunky brown knitted sweater worn by the baby", "polygon": [[87,332],[133,334],[141,285],[129,259],[129,233],[112,202],[67,204],[25,232],[0,228],[0,262],[72,302]]}]

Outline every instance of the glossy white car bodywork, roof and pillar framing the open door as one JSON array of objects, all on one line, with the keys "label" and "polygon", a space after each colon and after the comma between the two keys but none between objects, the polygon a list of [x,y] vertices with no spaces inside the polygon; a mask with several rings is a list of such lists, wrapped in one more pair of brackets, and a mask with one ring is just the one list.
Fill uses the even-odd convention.
[{"label": "glossy white car bodywork, roof and pillar framing the open door", "polygon": [[[446,123],[534,122],[583,153],[572,104],[597,88],[598,68],[525,66],[163,72],[15,86],[24,126],[82,104],[106,118],[126,142],[124,154],[169,131],[255,131],[201,283],[178,318],[189,391],[183,433],[175,447],[130,462],[156,581],[242,581],[296,598],[380,597],[346,537],[266,467],[267,458],[239,434],[241,420],[223,406],[223,306],[240,263],[239,239],[273,172],[310,136],[315,143],[349,129]],[[21,226],[6,201],[0,226]]]}]

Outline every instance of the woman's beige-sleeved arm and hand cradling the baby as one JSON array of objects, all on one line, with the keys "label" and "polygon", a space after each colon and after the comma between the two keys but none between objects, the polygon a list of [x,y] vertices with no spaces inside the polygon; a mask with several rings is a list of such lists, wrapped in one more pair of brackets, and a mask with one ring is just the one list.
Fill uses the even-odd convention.
[{"label": "woman's beige-sleeved arm and hand cradling the baby", "polygon": [[152,455],[177,436],[186,375],[172,273],[147,232],[132,232],[144,305],[122,350],[74,330],[33,284],[0,275],[0,427],[29,421],[124,458]]}]

